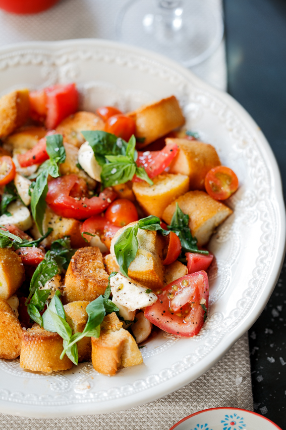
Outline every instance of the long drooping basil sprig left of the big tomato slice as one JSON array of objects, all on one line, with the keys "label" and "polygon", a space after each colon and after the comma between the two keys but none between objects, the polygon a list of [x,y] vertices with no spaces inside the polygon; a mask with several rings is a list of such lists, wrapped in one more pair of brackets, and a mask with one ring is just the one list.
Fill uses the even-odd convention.
[{"label": "long drooping basil sprig left of the big tomato slice", "polygon": [[39,232],[42,234],[42,223],[46,209],[46,195],[48,191],[47,179],[48,176],[58,178],[59,164],[66,159],[66,150],[63,145],[62,135],[46,136],[46,151],[49,159],[40,166],[40,173],[37,176],[36,182],[31,187],[31,211],[33,219]]}]

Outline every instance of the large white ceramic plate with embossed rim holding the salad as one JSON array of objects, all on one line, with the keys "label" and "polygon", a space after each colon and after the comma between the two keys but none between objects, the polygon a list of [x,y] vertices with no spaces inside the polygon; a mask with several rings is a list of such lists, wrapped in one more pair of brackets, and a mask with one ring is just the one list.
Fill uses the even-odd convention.
[{"label": "large white ceramic plate with embossed rim holding the salad", "polygon": [[230,96],[178,64],[104,40],[31,42],[0,51],[0,95],[76,81],[82,108],[117,105],[128,111],[175,94],[188,127],[215,146],[240,189],[234,209],[213,236],[210,310],[191,339],[162,333],[142,350],[144,364],[116,376],[91,363],[46,375],[0,360],[0,411],[34,417],[112,412],[155,400],[213,366],[254,323],[274,288],[284,254],[285,214],[276,161],[260,128]]}]

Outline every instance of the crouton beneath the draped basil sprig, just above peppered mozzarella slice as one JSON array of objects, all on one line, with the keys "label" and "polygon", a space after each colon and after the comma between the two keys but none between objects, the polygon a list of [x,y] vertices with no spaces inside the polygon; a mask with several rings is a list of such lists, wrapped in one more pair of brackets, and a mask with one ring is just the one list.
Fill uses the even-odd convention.
[{"label": "crouton beneath the draped basil sprig, just above peppered mozzarella slice", "polygon": [[[110,253],[116,259],[114,245],[117,238],[128,227],[136,222],[130,223],[120,229],[111,240]],[[128,276],[153,290],[163,286],[162,265],[162,238],[156,231],[138,229],[138,251],[128,269]]]}]

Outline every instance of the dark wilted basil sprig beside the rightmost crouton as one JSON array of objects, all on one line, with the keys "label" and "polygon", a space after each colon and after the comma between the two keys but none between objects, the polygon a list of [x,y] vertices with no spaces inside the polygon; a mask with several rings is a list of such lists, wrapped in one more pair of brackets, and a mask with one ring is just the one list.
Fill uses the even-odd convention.
[{"label": "dark wilted basil sprig beside the rightmost crouton", "polygon": [[192,236],[189,227],[189,215],[184,213],[176,202],[176,210],[171,219],[171,224],[167,227],[168,230],[177,234],[181,241],[182,252],[179,260],[184,262],[185,252],[196,252],[198,254],[208,255],[208,251],[202,251],[198,248],[197,239]]}]

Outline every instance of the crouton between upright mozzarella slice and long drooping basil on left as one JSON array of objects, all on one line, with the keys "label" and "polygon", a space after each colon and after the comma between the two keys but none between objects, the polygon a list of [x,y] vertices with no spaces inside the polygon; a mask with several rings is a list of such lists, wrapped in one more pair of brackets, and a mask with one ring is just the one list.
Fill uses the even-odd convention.
[{"label": "crouton between upright mozzarella slice and long drooping basil on left", "polygon": [[83,169],[78,168],[78,148],[71,143],[64,142],[64,147],[66,150],[65,162],[60,164],[61,175],[75,174],[79,178],[82,178],[88,185],[89,189],[93,190],[95,188],[96,182],[94,179],[90,178]]}]

